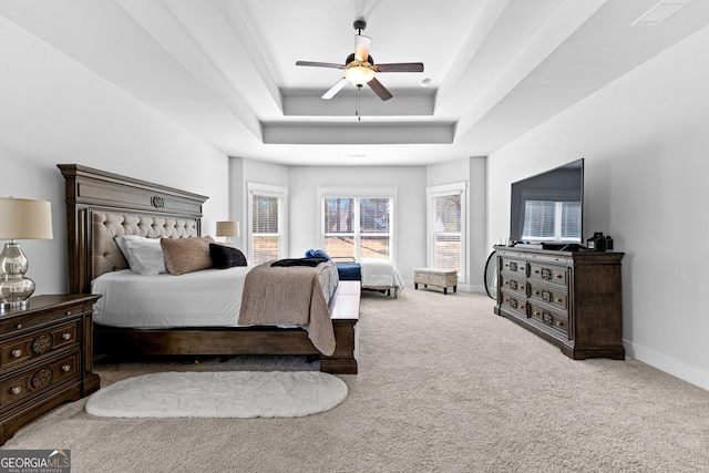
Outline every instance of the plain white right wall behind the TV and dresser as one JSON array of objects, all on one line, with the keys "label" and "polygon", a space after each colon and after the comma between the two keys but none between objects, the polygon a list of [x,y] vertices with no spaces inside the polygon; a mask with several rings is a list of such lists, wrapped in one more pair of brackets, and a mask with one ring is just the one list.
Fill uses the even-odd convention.
[{"label": "plain white right wall behind the TV and dresser", "polygon": [[511,182],[585,157],[586,236],[626,254],[627,353],[709,389],[707,51],[709,28],[493,153],[487,239],[507,236]]}]

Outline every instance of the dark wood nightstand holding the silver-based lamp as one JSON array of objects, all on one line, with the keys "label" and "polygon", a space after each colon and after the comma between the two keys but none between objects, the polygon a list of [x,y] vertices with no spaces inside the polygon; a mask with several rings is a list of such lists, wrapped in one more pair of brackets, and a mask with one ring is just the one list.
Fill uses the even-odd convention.
[{"label": "dark wood nightstand holding the silver-based lamp", "polygon": [[99,389],[93,373],[93,304],[53,295],[0,313],[0,444],[24,423]]}]

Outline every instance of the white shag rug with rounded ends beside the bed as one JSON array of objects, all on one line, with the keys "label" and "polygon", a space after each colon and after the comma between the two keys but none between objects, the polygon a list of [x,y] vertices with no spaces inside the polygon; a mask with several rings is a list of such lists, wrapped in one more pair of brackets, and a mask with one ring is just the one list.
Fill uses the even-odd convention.
[{"label": "white shag rug with rounded ends beside the bed", "polygon": [[163,372],[100,389],[85,410],[109,418],[294,418],[346,397],[345,381],[319,371]]}]

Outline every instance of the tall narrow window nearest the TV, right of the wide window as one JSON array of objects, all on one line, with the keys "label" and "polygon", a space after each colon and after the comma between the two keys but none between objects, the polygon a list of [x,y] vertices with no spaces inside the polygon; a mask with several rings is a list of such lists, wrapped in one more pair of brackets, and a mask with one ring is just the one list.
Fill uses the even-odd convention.
[{"label": "tall narrow window nearest the TV, right of the wide window", "polygon": [[455,270],[464,281],[465,183],[427,188],[430,266]]}]

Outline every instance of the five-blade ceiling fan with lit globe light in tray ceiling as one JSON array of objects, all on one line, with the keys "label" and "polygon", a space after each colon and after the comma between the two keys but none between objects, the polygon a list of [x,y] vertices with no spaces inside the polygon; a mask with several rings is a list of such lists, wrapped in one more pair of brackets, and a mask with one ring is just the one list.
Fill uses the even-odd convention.
[{"label": "five-blade ceiling fan with lit globe light in tray ceiling", "polygon": [[422,62],[395,62],[390,64],[376,64],[371,55],[369,55],[369,47],[371,38],[362,35],[362,30],[367,28],[364,20],[354,21],[354,52],[347,56],[345,64],[336,64],[332,62],[312,62],[298,61],[296,65],[310,65],[315,68],[332,68],[343,69],[345,76],[338,81],[322,99],[332,99],[345,85],[351,83],[358,89],[369,85],[381,100],[392,97],[391,93],[374,76],[376,72],[423,72]]}]

